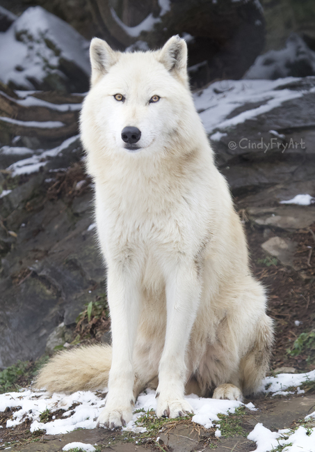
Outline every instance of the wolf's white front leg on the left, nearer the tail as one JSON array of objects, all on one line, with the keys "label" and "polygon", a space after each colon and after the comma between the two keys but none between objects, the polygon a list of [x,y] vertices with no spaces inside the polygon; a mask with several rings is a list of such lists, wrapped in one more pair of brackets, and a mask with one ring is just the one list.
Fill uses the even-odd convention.
[{"label": "wolf's white front leg on the left, nearer the tail", "polygon": [[115,428],[131,421],[134,406],[132,354],[140,309],[140,284],[136,271],[111,266],[107,275],[108,305],[111,312],[113,360],[108,378],[105,409],[98,426]]}]

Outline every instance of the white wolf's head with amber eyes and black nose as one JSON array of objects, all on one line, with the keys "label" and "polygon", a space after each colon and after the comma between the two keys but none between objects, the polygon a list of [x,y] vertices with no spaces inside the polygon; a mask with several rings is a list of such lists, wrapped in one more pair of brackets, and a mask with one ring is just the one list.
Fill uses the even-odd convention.
[{"label": "white wolf's head with amber eyes and black nose", "polygon": [[87,150],[91,134],[105,153],[124,155],[162,153],[191,138],[188,130],[200,120],[188,87],[183,39],[173,36],[155,52],[121,53],[94,38],[90,60],[91,89],[81,114]]}]

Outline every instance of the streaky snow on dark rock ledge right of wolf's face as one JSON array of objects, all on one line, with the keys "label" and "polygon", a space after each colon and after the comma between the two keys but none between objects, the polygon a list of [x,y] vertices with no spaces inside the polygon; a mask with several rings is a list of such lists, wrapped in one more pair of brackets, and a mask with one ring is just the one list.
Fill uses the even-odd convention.
[{"label": "streaky snow on dark rock ledge right of wolf's face", "polygon": [[[216,81],[194,94],[195,107],[208,134],[225,132],[229,127],[257,119],[284,102],[304,95],[303,91],[282,88],[300,79]],[[313,92],[313,88],[311,88]],[[257,107],[258,104],[258,107]],[[231,117],[234,110],[246,105],[245,111]],[[227,118],[229,116],[229,118]]]}]

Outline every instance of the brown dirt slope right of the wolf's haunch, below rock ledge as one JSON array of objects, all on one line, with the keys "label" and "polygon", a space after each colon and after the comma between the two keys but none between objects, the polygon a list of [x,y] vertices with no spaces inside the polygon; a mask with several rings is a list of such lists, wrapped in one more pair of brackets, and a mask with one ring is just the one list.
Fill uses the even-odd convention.
[{"label": "brown dirt slope right of the wolf's haunch, below rock ledge", "polygon": [[[314,329],[315,322],[315,253],[309,260],[309,250],[314,248],[315,240],[308,230],[299,233],[279,233],[271,231],[273,235],[284,235],[298,242],[296,262],[301,263],[303,272],[307,272],[307,279],[302,279],[295,270],[284,267],[280,263],[268,258],[261,249],[261,243],[266,238],[264,231],[249,222],[245,225],[252,262],[252,271],[257,279],[264,283],[268,291],[268,315],[275,322],[275,344],[270,368],[283,366],[294,367],[298,372],[312,371],[315,368],[315,350],[305,350],[305,354],[291,357],[287,350],[292,348],[293,342],[302,332]],[[315,231],[315,223],[311,230]],[[263,263],[264,262],[264,263]],[[268,266],[266,266],[265,262]],[[310,266],[307,263],[310,263]],[[300,325],[295,325],[298,320]],[[310,359],[307,360],[307,358]]]}]

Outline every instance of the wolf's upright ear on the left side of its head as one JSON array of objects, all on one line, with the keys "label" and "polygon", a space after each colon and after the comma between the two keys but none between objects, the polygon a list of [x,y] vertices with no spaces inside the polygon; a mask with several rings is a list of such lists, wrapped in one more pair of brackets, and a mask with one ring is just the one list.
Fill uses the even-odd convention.
[{"label": "wolf's upright ear on the left side of its head", "polygon": [[93,85],[118,61],[118,52],[114,52],[104,40],[93,38],[90,44],[90,61],[92,67],[91,84]]}]

